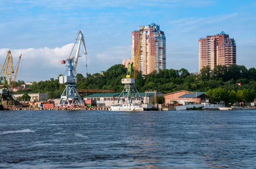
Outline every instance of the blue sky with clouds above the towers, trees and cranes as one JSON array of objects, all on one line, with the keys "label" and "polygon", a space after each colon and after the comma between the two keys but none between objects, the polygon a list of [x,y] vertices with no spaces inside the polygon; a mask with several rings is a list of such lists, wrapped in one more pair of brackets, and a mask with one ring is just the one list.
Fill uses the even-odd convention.
[{"label": "blue sky with clouds above the towers, trees and cranes", "polygon": [[151,23],[166,34],[168,69],[197,71],[198,39],[221,31],[236,40],[237,64],[255,67],[255,0],[0,0],[0,64],[10,49],[14,66],[22,54],[17,79],[57,77],[81,30],[88,73],[100,72],[131,58],[131,32]]}]

